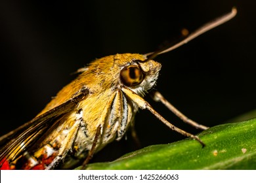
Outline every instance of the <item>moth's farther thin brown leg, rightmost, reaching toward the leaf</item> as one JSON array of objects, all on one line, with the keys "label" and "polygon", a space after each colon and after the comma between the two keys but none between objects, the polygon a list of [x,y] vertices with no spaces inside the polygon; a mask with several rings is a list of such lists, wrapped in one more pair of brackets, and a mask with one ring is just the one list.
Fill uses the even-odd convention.
[{"label": "moth's farther thin brown leg, rightmost, reaching toward the leaf", "polygon": [[181,120],[183,122],[185,122],[186,124],[190,124],[199,129],[208,129],[209,128],[205,125],[201,125],[201,124],[198,124],[197,122],[194,122],[193,120],[190,120],[188,117],[186,117],[184,114],[182,114],[181,111],[179,111],[177,108],[175,108],[173,105],[171,105],[171,103],[169,103],[169,101],[167,101],[163,97],[163,95],[161,95],[160,92],[152,91],[152,92],[150,92],[150,95],[154,101],[157,101],[157,102],[160,101],[161,103],[163,103],[163,105],[165,105],[165,107],[169,108],[169,110],[171,110],[171,112],[173,112],[173,114],[175,114],[176,116],[181,118]]}]

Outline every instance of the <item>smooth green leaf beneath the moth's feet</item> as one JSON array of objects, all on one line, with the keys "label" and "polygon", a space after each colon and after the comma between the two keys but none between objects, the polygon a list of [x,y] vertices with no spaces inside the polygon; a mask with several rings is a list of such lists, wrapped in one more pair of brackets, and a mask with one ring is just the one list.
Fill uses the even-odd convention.
[{"label": "smooth green leaf beneath the moth's feet", "polygon": [[198,136],[205,147],[185,139],[92,163],[87,169],[256,169],[256,118],[211,127]]}]

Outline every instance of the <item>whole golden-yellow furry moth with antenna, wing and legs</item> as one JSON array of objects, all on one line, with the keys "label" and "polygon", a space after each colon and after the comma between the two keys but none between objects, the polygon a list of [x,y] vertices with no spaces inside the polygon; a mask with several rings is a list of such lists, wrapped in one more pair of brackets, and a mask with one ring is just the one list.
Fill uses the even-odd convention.
[{"label": "whole golden-yellow furry moth with antenna, wing and legs", "polygon": [[79,76],[62,88],[33,120],[0,137],[1,169],[70,169],[78,163],[86,165],[95,152],[125,135],[139,108],[149,110],[170,129],[204,145],[196,135],[165,120],[143,97],[150,93],[184,122],[207,129],[152,90],[161,69],[161,64],[153,59],[235,15],[236,8],[232,8],[181,42],[156,52],[106,56],[79,69]]}]

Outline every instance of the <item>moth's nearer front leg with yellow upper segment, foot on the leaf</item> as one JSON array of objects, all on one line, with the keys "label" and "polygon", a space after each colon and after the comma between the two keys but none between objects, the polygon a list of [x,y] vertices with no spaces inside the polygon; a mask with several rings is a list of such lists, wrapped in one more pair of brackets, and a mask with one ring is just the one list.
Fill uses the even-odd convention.
[{"label": "moth's nearer front leg with yellow upper segment, foot on the leaf", "polygon": [[179,127],[176,127],[175,125],[173,125],[170,122],[168,122],[167,120],[165,120],[165,118],[163,118],[163,116],[161,116],[158,112],[156,112],[156,110],[154,110],[154,108],[152,108],[151,105],[147,101],[145,101],[142,97],[137,95],[137,93],[133,92],[126,86],[121,86],[121,90],[123,91],[123,93],[125,93],[125,95],[127,95],[127,97],[129,97],[140,108],[142,108],[142,109],[146,108],[147,110],[152,112],[152,114],[154,114],[161,122],[163,122],[163,124],[167,125],[167,127],[169,127],[170,129],[173,129],[174,131],[177,131],[178,133],[181,133],[182,135],[184,135],[186,137],[191,137],[192,139],[195,139],[196,141],[200,142],[200,144],[202,144],[202,146],[205,146],[205,144],[201,141],[201,139],[198,136],[192,135],[191,133],[188,133],[188,132],[180,129]]}]

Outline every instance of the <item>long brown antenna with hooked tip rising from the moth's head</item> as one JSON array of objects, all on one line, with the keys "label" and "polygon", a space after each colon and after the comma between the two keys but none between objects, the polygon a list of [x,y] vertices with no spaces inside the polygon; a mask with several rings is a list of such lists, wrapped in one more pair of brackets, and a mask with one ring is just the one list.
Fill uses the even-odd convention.
[{"label": "long brown antenna with hooked tip rising from the moth's head", "polygon": [[191,33],[190,35],[188,35],[188,37],[186,37],[185,39],[183,39],[182,41],[178,42],[177,44],[174,44],[172,46],[167,46],[164,48],[161,48],[160,50],[156,51],[156,52],[150,52],[148,54],[145,54],[146,56],[149,56],[147,59],[145,59],[144,61],[141,62],[146,62],[150,59],[154,59],[156,58],[156,56],[166,53],[166,52],[170,52],[171,50],[174,50],[176,48],[179,48],[179,46],[182,46],[183,44],[186,44],[188,41],[191,41],[192,39],[195,39],[196,37],[202,35],[203,33],[209,31],[210,29],[213,29],[221,24],[224,24],[225,22],[228,22],[228,20],[234,18],[234,16],[236,16],[237,10],[235,7],[232,8],[232,11],[229,12],[228,14],[224,14],[223,16],[216,18],[215,20],[208,22],[207,24],[203,25],[202,27],[200,27],[199,29],[196,29],[196,31],[194,31],[193,33]]}]

